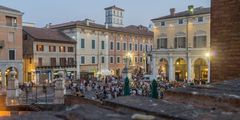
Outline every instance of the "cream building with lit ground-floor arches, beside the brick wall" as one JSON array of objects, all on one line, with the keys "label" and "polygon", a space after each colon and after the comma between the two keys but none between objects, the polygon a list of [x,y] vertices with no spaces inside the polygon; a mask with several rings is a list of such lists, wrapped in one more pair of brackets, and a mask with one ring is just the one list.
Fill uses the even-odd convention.
[{"label": "cream building with lit ground-floor arches, beside the brick wall", "polygon": [[210,8],[194,8],[152,19],[152,70],[163,80],[209,82]]}]

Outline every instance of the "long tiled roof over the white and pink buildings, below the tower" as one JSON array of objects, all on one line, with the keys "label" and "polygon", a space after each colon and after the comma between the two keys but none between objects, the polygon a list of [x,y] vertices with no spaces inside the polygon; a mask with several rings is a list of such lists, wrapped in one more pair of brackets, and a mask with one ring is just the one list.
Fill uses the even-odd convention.
[{"label": "long tiled roof over the white and pink buildings, below the tower", "polygon": [[[99,29],[104,29],[104,30],[112,31],[112,32],[124,32],[124,33],[137,34],[137,35],[153,36],[153,32],[149,31],[146,27],[144,27],[142,25],[140,25],[140,26],[131,25],[132,27],[130,27],[130,26],[110,27],[109,26],[108,28],[106,28],[105,25],[102,25],[102,24],[89,23],[89,26],[87,26],[86,21],[71,21],[71,22],[62,23],[62,24],[51,25],[50,28],[58,29],[58,28],[62,28],[62,27],[77,26],[77,25],[92,27],[92,28],[99,28]],[[144,29],[142,29],[142,28],[144,28]]]}]

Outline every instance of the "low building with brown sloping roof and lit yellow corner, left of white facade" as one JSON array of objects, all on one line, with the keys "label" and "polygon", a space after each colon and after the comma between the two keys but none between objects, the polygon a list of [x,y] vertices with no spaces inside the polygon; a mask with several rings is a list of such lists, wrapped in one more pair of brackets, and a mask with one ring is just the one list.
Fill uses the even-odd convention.
[{"label": "low building with brown sloping roof and lit yellow corner, left of white facade", "polygon": [[50,83],[64,71],[76,77],[76,41],[48,28],[23,27],[24,79],[36,84]]}]

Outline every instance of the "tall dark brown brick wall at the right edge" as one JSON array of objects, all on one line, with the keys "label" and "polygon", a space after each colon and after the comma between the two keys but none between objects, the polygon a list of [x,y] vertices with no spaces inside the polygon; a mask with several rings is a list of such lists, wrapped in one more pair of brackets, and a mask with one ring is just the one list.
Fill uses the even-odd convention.
[{"label": "tall dark brown brick wall at the right edge", "polygon": [[240,80],[240,0],[212,0],[211,81]]}]

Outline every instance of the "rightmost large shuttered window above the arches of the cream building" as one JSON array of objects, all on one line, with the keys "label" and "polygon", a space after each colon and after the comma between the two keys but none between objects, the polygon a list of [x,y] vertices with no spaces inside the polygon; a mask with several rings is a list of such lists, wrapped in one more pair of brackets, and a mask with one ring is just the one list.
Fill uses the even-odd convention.
[{"label": "rightmost large shuttered window above the arches of the cream building", "polygon": [[194,48],[207,47],[207,36],[195,36],[193,44]]}]

